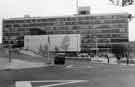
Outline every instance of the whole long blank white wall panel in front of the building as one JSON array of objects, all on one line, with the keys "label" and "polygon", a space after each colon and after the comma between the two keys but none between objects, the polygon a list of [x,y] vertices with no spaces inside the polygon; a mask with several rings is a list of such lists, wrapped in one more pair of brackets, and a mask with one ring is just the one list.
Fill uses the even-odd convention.
[{"label": "whole long blank white wall panel in front of the building", "polygon": [[24,48],[38,52],[40,48],[49,51],[80,51],[80,34],[26,35]]}]

